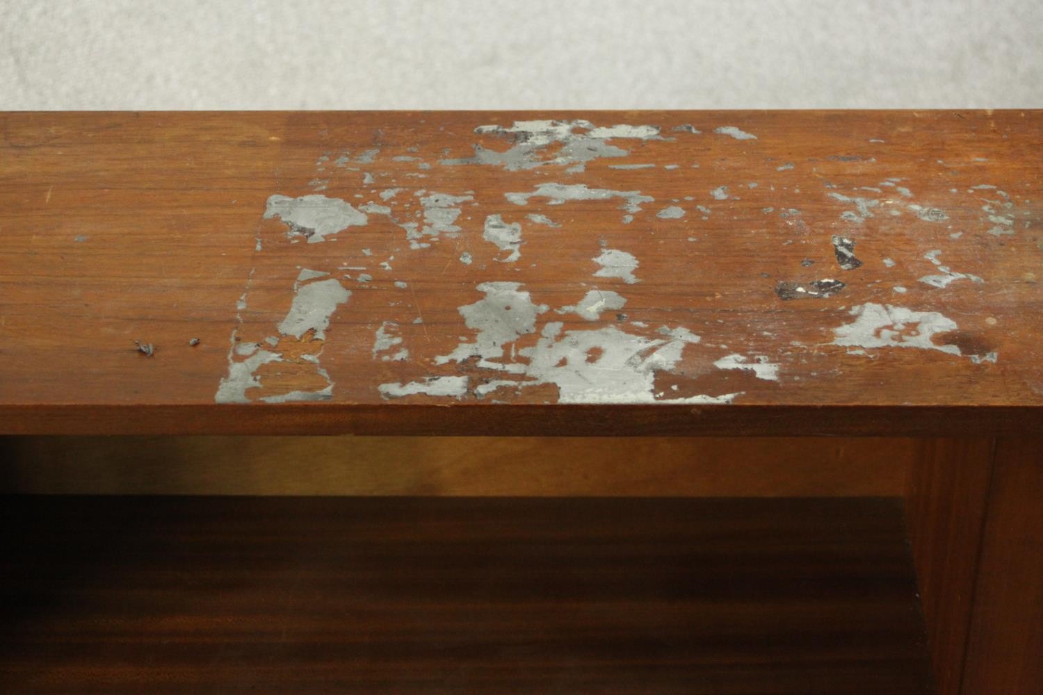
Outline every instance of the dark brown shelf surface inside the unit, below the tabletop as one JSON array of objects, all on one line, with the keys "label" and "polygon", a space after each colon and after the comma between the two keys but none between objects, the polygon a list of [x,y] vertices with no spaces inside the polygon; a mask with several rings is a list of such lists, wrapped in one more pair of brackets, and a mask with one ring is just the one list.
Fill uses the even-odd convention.
[{"label": "dark brown shelf surface inside the unit, below the tabletop", "polygon": [[5,692],[928,693],[898,500],[16,497]]}]

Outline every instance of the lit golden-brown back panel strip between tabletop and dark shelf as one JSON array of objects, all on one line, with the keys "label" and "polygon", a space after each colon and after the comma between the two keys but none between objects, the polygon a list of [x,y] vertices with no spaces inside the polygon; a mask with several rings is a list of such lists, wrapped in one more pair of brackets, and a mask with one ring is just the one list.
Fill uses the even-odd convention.
[{"label": "lit golden-brown back panel strip between tabletop and dark shelf", "polygon": [[898,497],[916,440],[0,438],[0,493]]}]

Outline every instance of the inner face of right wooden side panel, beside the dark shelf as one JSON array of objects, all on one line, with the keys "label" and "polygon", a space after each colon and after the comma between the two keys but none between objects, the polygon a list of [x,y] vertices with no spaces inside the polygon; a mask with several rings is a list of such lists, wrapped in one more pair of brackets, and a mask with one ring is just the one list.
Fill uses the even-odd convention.
[{"label": "inner face of right wooden side panel, beside the dark shelf", "polygon": [[992,455],[992,440],[923,440],[908,469],[905,515],[939,695],[961,692]]}]

